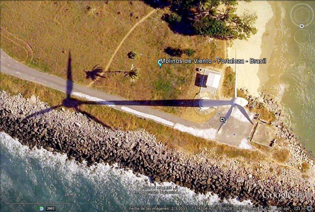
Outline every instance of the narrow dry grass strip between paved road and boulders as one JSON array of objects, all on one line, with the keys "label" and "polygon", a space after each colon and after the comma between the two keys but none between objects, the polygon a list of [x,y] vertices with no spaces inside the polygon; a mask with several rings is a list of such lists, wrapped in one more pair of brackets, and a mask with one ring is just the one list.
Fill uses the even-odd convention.
[{"label": "narrow dry grass strip between paved road and boulders", "polygon": [[[40,100],[47,102],[51,106],[61,104],[62,100],[65,98],[65,94],[60,91],[3,73],[0,73],[0,89],[15,95],[21,93],[26,98],[29,98],[33,94],[38,95]],[[146,120],[110,107],[82,105],[80,106],[80,109],[95,116],[112,129],[145,129],[169,147],[185,151],[188,154],[197,154],[204,149],[207,149],[209,157],[241,157],[250,160],[264,159],[263,155],[259,152],[239,149],[233,146],[195,137],[164,126],[163,124],[155,123],[151,120]]]}]

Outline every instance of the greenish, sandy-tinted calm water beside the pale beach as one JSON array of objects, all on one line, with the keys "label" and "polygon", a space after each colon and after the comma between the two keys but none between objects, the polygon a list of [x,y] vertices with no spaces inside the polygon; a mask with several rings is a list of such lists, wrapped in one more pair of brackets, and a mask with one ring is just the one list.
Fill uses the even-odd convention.
[{"label": "greenish, sandy-tinted calm water beside the pale beach", "polygon": [[[315,1],[272,1],[276,10],[269,79],[262,86],[280,100],[286,123],[315,152]],[[300,27],[303,24],[303,28]]]}]

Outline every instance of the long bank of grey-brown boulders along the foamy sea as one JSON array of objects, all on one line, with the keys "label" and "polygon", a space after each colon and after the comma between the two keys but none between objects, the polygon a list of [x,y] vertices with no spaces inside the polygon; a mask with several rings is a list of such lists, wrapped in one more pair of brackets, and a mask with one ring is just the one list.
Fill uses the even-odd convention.
[{"label": "long bank of grey-brown boulders along the foamy sea", "polygon": [[[286,198],[284,201],[263,198],[264,191],[302,193],[304,190],[300,186],[292,188],[296,184],[289,182],[256,179],[246,171],[211,163],[200,155],[187,158],[185,153],[169,149],[144,131],[113,131],[80,113],[47,110],[45,103],[10,96],[3,91],[0,102],[0,130],[30,148],[62,152],[78,162],[85,160],[88,165],[117,163],[158,182],[170,181],[195,192],[213,192],[222,198],[250,199],[255,205],[315,205],[313,198]],[[28,117],[33,113],[35,115]],[[308,192],[314,197],[314,188]]]}]

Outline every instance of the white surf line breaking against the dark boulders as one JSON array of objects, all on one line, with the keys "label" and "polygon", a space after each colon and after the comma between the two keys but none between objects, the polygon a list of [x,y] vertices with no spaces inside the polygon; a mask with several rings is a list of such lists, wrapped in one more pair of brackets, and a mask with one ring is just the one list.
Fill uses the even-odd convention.
[{"label": "white surf line breaking against the dark boulders", "polygon": [[[8,140],[10,142],[8,142]],[[119,167],[119,164],[114,163],[112,165],[109,165],[108,163],[99,163],[98,165],[92,165],[90,167],[87,167],[85,161],[83,163],[77,163],[75,160],[69,160],[66,156],[66,154],[62,153],[56,153],[56,152],[49,152],[48,150],[42,148],[34,148],[29,149],[27,146],[24,146],[18,141],[17,139],[13,139],[10,135],[0,132],[0,141],[1,141],[1,148],[7,149],[10,153],[22,155],[24,157],[31,157],[37,160],[46,161],[45,165],[49,166],[59,166],[57,170],[67,170],[67,174],[70,172],[70,175],[78,175],[82,174],[84,175],[84,178],[93,179],[95,175],[100,181],[106,181],[109,180],[112,176],[108,175],[108,172],[112,172],[112,174],[115,175],[115,177],[122,178],[122,181],[126,182],[126,188],[130,187],[130,184],[132,186],[135,186],[135,189],[138,187],[146,186],[171,186],[174,190],[181,191],[181,195],[184,195],[185,198],[193,197],[197,198],[197,200],[200,200],[199,204],[242,204],[247,205],[250,203],[250,201],[245,200],[243,202],[239,202],[237,199],[223,199],[223,201],[220,199],[220,197],[216,194],[197,194],[194,191],[192,191],[189,188],[178,186],[173,182],[152,182],[149,177],[146,175],[142,175],[139,173],[134,173],[131,169],[122,169]],[[56,164],[57,161],[57,164]],[[61,164],[61,167],[60,167]],[[70,167],[70,170],[69,170]],[[59,173],[60,174],[60,173]],[[105,174],[105,176],[104,176]],[[116,180],[114,177],[114,180]],[[156,191],[159,191],[158,189]],[[161,190],[160,190],[161,191]],[[174,196],[176,195],[176,197]],[[157,198],[160,198],[161,196],[157,196]],[[163,195],[162,198],[172,199],[172,198],[178,198],[178,194],[167,194]],[[194,199],[191,199],[192,201]],[[192,202],[195,203],[195,202]]]}]

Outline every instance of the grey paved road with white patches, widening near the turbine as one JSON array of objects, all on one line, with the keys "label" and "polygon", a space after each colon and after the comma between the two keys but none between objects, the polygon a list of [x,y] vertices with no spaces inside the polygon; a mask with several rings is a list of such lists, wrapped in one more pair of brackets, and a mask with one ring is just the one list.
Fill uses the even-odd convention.
[{"label": "grey paved road with white patches, widening near the turbine", "polygon": [[[53,89],[57,89],[66,93],[67,80],[60,77],[52,76],[44,72],[37,71],[29,68],[22,63],[10,58],[1,49],[1,63],[0,71],[6,74],[19,77],[21,79],[33,81],[43,84]],[[36,94],[35,94],[36,95]],[[219,133],[217,129],[220,125],[219,118],[224,116],[228,110],[228,106],[220,106],[219,111],[221,115],[216,114],[209,121],[197,124],[180,117],[176,117],[169,113],[155,110],[149,106],[134,106],[134,105],[115,105],[111,101],[127,101],[126,99],[114,95],[104,93],[99,90],[88,88],[76,83],[73,83],[72,95],[81,97],[83,99],[92,101],[102,101],[101,104],[111,106],[117,110],[128,112],[140,117],[151,119],[155,122],[165,124],[183,132],[193,134],[195,136],[203,137],[219,141],[222,143],[230,144],[233,146],[246,147],[247,136],[250,135],[253,126],[246,120],[245,117],[238,111],[234,110],[228,122],[222,127]],[[110,104],[110,105],[108,105]],[[250,117],[253,114],[248,112]],[[233,135],[235,133],[235,135]]]}]

